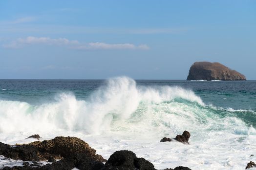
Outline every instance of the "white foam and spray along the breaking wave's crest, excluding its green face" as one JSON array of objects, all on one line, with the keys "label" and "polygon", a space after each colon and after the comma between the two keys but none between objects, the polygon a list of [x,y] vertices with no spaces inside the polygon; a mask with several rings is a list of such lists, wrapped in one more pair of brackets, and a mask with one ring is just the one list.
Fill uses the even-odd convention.
[{"label": "white foam and spray along the breaking wave's crest, excluding its green face", "polygon": [[153,106],[165,105],[162,103],[165,101],[182,99],[204,105],[190,90],[137,87],[135,81],[127,77],[108,80],[107,86],[99,88],[86,101],[78,101],[72,93],[61,93],[55,99],[56,102],[37,106],[0,101],[0,132],[39,133],[64,129],[100,134],[111,130],[111,123],[126,121],[134,114],[152,117]]}]

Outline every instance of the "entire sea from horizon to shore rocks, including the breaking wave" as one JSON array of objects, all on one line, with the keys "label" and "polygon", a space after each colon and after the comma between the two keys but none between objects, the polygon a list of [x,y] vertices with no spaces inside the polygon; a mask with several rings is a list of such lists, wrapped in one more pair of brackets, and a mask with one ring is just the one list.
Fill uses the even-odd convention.
[{"label": "entire sea from horizon to shore rocks, including the breaking wave", "polygon": [[[190,145],[159,141],[191,133]],[[256,161],[256,81],[0,80],[0,141],[80,137],[156,169],[241,170]],[[1,165],[1,161],[0,161]]]}]

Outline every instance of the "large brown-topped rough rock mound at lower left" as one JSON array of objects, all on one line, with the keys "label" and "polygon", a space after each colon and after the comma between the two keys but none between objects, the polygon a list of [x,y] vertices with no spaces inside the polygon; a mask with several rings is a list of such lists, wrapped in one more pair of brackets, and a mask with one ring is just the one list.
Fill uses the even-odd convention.
[{"label": "large brown-topped rough rock mound at lower left", "polygon": [[0,143],[0,154],[12,159],[23,161],[40,161],[48,158],[62,159],[74,156],[77,153],[86,153],[91,160],[106,161],[101,155],[96,154],[85,141],[77,137],[55,137],[42,142],[35,141],[29,144],[12,147]]}]

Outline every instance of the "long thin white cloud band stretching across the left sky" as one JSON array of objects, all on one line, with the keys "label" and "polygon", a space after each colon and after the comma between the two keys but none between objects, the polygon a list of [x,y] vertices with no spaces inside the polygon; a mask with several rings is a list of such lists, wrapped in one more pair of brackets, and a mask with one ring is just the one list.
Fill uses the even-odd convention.
[{"label": "long thin white cloud band stretching across the left sky", "polygon": [[136,46],[134,44],[107,44],[103,42],[90,42],[82,44],[77,40],[68,40],[66,38],[49,38],[49,37],[34,37],[18,38],[10,44],[3,45],[4,48],[21,48],[32,44],[45,44],[51,46],[67,46],[77,50],[149,50],[146,44]]}]

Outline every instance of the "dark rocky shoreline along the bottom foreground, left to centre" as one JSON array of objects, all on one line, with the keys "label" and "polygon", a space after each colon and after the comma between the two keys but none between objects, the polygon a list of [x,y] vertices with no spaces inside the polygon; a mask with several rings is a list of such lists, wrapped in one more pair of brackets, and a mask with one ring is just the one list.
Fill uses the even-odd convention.
[{"label": "dark rocky shoreline along the bottom foreground, left to centre", "polygon": [[[156,170],[152,163],[127,150],[116,151],[106,160],[85,141],[69,136],[14,146],[0,142],[0,155],[24,161],[23,166],[0,167],[2,170]],[[48,161],[48,164],[42,166],[39,161]],[[176,167],[166,170],[191,169]]]}]

